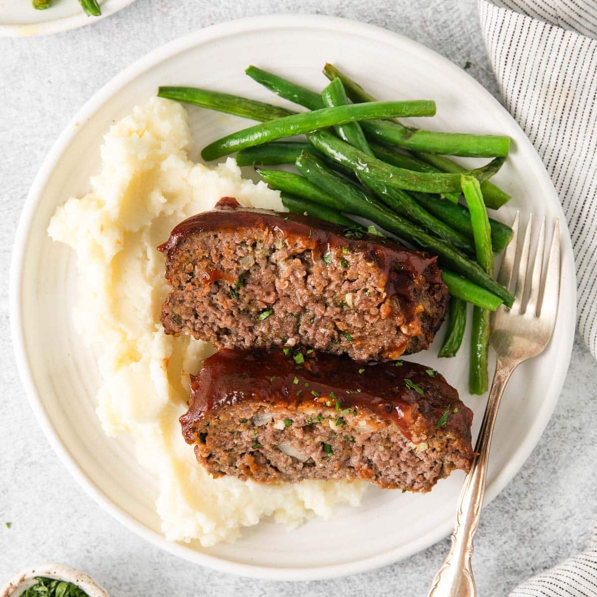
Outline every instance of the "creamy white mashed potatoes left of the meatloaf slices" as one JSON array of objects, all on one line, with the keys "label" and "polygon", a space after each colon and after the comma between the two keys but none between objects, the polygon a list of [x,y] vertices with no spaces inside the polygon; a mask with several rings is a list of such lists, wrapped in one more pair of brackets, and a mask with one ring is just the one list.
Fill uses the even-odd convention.
[{"label": "creamy white mashed potatoes left of the meatloaf slices", "polygon": [[278,192],[243,180],[233,159],[215,169],[189,161],[191,143],[179,104],[154,98],[136,107],[104,137],[91,193],[58,208],[48,233],[78,257],[75,325],[100,355],[97,413],[104,430],[130,433],[140,462],[159,479],[156,509],[165,536],[210,546],[239,537],[241,527],[263,516],[291,526],[310,512],[328,517],[335,504],[358,505],[366,484],[213,479],[184,443],[178,418],[186,411],[189,374],[213,348],[164,334],[159,313],[168,285],[156,247],[179,221],[222,196],[284,209]]}]

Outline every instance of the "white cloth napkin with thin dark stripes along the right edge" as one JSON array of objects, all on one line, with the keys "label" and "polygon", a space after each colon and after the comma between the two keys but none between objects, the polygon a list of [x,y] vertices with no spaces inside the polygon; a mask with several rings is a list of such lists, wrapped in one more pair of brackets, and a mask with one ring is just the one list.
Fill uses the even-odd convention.
[{"label": "white cloth napkin with thin dark stripes along the right edge", "polygon": [[[570,227],[578,330],[597,358],[597,0],[478,0],[507,109],[552,177]],[[587,549],[511,597],[597,597],[597,528]]]}]

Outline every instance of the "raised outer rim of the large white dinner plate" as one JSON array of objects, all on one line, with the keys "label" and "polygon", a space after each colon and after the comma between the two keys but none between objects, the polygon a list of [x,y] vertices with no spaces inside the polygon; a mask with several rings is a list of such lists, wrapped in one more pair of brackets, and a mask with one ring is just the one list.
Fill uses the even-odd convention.
[{"label": "raised outer rim of the large white dinner plate", "polygon": [[[128,1],[128,0],[127,0]],[[131,2],[133,0],[130,0]],[[13,253],[11,257],[10,267],[10,287],[9,287],[9,313],[10,313],[10,327],[11,336],[13,340],[13,350],[17,362],[17,370],[21,383],[26,391],[27,398],[29,399],[30,405],[35,414],[36,420],[41,426],[44,435],[50,442],[51,447],[57,453],[60,460],[70,472],[70,474],[76,479],[76,481],[84,488],[89,496],[91,496],[96,503],[98,503],[104,510],[116,520],[121,522],[129,530],[134,531],[137,535],[144,538],[149,543],[164,549],[173,555],[179,556],[180,558],[186,559],[187,561],[194,562],[195,564],[205,565],[213,570],[221,571],[224,573],[235,574],[236,576],[246,576],[252,578],[261,578],[264,580],[323,580],[327,578],[337,578],[342,576],[351,576],[352,574],[358,574],[380,568],[384,565],[393,564],[401,559],[408,558],[415,553],[420,552],[423,549],[435,544],[437,541],[444,537],[447,537],[451,532],[453,521],[448,520],[442,525],[438,525],[429,533],[422,535],[417,538],[416,541],[412,541],[407,547],[395,547],[387,550],[383,553],[378,553],[367,558],[358,559],[356,561],[343,562],[341,564],[322,565],[318,567],[306,567],[306,568],[294,568],[294,567],[272,567],[256,564],[245,564],[235,562],[230,559],[220,558],[218,556],[210,555],[209,553],[199,552],[190,547],[184,546],[181,543],[175,543],[168,541],[162,534],[150,530],[143,524],[134,519],[130,514],[121,509],[118,505],[113,503],[107,498],[101,489],[89,478],[89,476],[82,470],[76,463],[75,458],[70,454],[66,445],[63,444],[59,438],[56,430],[50,422],[50,417],[46,413],[41,398],[36,390],[35,383],[33,382],[32,375],[30,373],[29,363],[27,362],[27,349],[24,343],[24,334],[22,327],[21,311],[20,311],[20,296],[21,296],[21,279],[22,279],[22,266],[25,255],[27,232],[29,230],[32,219],[35,216],[36,208],[41,200],[42,191],[45,186],[45,182],[50,177],[54,167],[60,161],[61,156],[67,149],[70,141],[78,133],[78,127],[76,123],[87,121],[87,119],[93,117],[94,113],[97,112],[103,106],[103,104],[110,99],[118,90],[124,85],[128,84],[136,76],[142,75],[149,69],[153,64],[167,60],[171,56],[177,53],[181,53],[193,45],[205,44],[213,41],[214,39],[224,38],[227,36],[234,35],[235,33],[244,33],[251,30],[259,29],[275,29],[279,27],[281,29],[292,28],[319,28],[327,26],[334,30],[342,29],[347,32],[359,32],[367,36],[374,36],[376,39],[385,38],[389,42],[396,41],[396,38],[401,40],[403,43],[413,45],[418,51],[427,54],[427,57],[435,61],[439,61],[447,69],[453,69],[454,72],[460,73],[456,64],[437,53],[431,48],[427,48],[423,44],[408,38],[407,36],[401,35],[384,29],[373,24],[361,23],[353,19],[344,19],[343,17],[333,17],[324,15],[314,14],[274,14],[268,16],[255,16],[245,17],[242,19],[235,19],[203,27],[201,29],[193,30],[190,33],[186,33],[177,39],[174,39],[167,44],[164,44],[149,53],[142,56],[140,59],[134,61],[118,75],[113,77],[103,87],[100,88],[89,100],[87,100],[81,109],[73,116],[66,127],[61,131],[58,139],[54,141],[53,146],[48,152],[44,162],[42,162],[38,173],[33,180],[32,186],[30,187],[29,193],[23,205],[23,210],[17,226],[16,235],[13,245]],[[466,73],[465,73],[466,74]],[[509,112],[505,109],[500,102],[489,93],[478,81],[470,77],[470,82],[473,86],[476,85],[479,90],[493,101],[494,107],[497,110],[505,113],[512,123],[520,129],[518,123],[512,118]],[[528,137],[522,131],[525,138]],[[530,147],[533,149],[534,156],[538,164],[541,165],[542,170],[546,174],[546,180],[549,180],[550,185],[553,188],[553,183],[545,170],[543,162],[538,156],[533,145],[530,143]],[[553,189],[554,195],[557,197],[555,189]],[[559,217],[564,219],[564,212],[561,204],[559,204]],[[565,235],[563,235],[562,242],[569,245],[570,254],[571,251],[571,239],[568,227],[565,228]],[[573,279],[576,280],[576,266],[574,259],[572,261]],[[562,345],[564,348],[565,356],[565,367],[562,368],[563,374],[561,379],[558,380],[556,386],[559,387],[558,398],[561,393],[561,389],[564,385],[565,374],[568,370],[570,358],[572,355],[573,343],[574,343],[574,330],[576,329],[576,284],[573,284],[574,301],[573,308],[568,309],[566,312],[559,311],[560,317],[566,317],[572,322],[571,333],[565,338],[566,343]],[[570,326],[569,326],[570,327]],[[562,362],[562,360],[560,361]],[[531,451],[536,447],[546,425],[550,420],[553,410],[558,402],[558,398],[555,398],[552,404],[548,405],[548,408],[541,409],[540,416],[537,416],[533,426],[529,428],[525,439],[519,444],[518,449],[508,463],[503,467],[500,473],[494,478],[493,482],[487,486],[487,492],[485,496],[485,503],[490,503],[501,491],[506,487],[507,484],[512,480],[513,476],[521,469],[527,458],[530,456]]]}]

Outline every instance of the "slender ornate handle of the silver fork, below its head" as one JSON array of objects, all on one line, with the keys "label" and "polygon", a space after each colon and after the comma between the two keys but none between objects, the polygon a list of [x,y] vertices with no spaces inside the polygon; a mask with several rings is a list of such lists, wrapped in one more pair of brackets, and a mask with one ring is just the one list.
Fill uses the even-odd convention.
[{"label": "slender ornate handle of the silver fork, below its head", "polygon": [[476,456],[458,498],[456,524],[451,536],[450,552],[433,578],[427,597],[475,597],[475,578],[471,565],[473,538],[479,525],[491,436],[496,423],[504,387],[518,362],[498,360],[491,391],[475,446]]}]

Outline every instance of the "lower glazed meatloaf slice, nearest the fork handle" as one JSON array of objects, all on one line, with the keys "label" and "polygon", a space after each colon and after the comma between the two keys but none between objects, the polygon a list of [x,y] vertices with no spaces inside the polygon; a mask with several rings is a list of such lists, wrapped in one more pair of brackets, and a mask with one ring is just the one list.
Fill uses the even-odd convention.
[{"label": "lower glazed meatloaf slice, nearest the fork handle", "polygon": [[424,492],[473,458],[472,411],[416,363],[223,349],[191,389],[184,439],[216,477],[365,479]]}]

